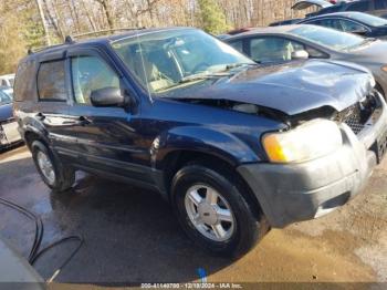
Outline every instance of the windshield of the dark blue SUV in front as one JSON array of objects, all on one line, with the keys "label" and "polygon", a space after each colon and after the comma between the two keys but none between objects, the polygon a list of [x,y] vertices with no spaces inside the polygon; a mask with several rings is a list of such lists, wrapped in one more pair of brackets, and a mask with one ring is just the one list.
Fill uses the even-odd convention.
[{"label": "windshield of the dark blue SUV in front", "polygon": [[224,76],[232,68],[254,64],[228,44],[195,29],[130,37],[112,46],[151,93]]}]

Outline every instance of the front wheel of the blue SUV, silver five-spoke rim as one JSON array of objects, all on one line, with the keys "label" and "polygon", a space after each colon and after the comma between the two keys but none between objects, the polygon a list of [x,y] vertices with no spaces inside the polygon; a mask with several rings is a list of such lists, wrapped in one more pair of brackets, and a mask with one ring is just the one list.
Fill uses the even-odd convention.
[{"label": "front wheel of the blue SUV, silver five-spoke rim", "polygon": [[172,179],[172,201],[182,229],[198,246],[238,258],[264,236],[268,226],[261,213],[254,215],[233,175],[219,172],[185,166]]}]

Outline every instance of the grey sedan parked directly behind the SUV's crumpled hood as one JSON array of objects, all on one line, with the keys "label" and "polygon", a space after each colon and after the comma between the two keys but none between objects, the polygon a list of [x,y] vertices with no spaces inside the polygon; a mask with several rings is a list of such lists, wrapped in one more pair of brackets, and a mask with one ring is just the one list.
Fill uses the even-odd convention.
[{"label": "grey sedan parked directly behind the SUV's crumpled hood", "polygon": [[349,61],[370,70],[379,92],[387,93],[387,42],[316,25],[255,29],[224,42],[258,63],[300,59]]}]

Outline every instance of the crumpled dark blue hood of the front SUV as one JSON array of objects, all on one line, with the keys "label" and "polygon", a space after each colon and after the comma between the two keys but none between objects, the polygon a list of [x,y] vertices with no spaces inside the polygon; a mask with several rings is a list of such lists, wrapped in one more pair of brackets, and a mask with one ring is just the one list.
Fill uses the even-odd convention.
[{"label": "crumpled dark blue hood of the front SUV", "polygon": [[337,61],[299,61],[249,69],[223,80],[168,96],[229,100],[295,115],[323,106],[341,112],[366,96],[375,85],[368,70]]}]

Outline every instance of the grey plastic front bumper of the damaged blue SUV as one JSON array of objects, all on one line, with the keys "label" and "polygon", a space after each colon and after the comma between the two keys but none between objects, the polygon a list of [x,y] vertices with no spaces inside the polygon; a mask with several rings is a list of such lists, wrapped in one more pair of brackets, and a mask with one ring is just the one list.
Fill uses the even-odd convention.
[{"label": "grey plastic front bumper of the damaged blue SUV", "polygon": [[272,227],[313,219],[346,204],[366,185],[377,156],[373,148],[387,130],[386,103],[380,115],[358,135],[341,125],[343,146],[301,164],[247,164],[238,167]]}]

